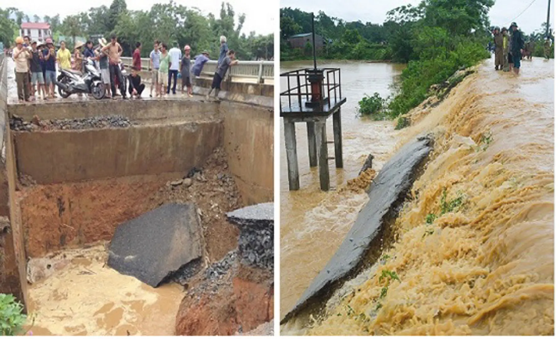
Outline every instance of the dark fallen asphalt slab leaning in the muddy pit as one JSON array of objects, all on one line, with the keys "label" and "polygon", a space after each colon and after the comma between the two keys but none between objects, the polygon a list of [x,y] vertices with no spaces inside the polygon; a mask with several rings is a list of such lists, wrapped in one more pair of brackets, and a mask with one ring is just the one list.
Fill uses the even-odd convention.
[{"label": "dark fallen asphalt slab leaning in the muddy pit", "polygon": [[197,206],[169,203],[119,225],[109,245],[108,264],[157,287],[180,268],[199,266],[201,255]]}]

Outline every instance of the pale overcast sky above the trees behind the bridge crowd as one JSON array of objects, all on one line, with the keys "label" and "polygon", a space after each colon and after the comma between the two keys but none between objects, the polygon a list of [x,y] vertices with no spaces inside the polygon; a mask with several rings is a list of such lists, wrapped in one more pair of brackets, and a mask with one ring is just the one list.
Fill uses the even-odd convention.
[{"label": "pale overcast sky above the trees behind the bridge crowd", "polygon": [[[125,0],[129,10],[150,10],[154,3],[167,3],[169,0]],[[60,17],[67,15],[77,14],[78,12],[87,11],[91,7],[99,7],[105,5],[109,7],[113,0],[2,0],[0,6],[16,7],[29,15],[31,21],[33,15],[55,16],[60,14]],[[186,7],[198,7],[203,13],[213,13],[215,16],[220,16],[220,8],[222,0],[202,0],[202,1],[186,1],[176,0],[177,4],[182,4]],[[228,0],[232,7],[234,7],[235,16],[245,13],[245,24],[243,25],[242,33],[249,34],[250,31],[255,31],[256,34],[269,34],[273,33],[278,13],[278,3],[276,1],[259,1],[259,0]],[[237,21],[236,21],[237,22]]]}]

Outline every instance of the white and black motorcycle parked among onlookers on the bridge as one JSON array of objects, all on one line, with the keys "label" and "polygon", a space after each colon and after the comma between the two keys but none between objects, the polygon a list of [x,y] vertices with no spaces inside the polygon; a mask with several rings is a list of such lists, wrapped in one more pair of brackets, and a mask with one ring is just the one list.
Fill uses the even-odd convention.
[{"label": "white and black motorcycle parked among onlookers on the bridge", "polygon": [[58,86],[58,94],[68,97],[76,93],[91,94],[100,100],[105,96],[105,86],[101,81],[101,75],[94,67],[91,60],[84,62],[85,73],[74,71],[74,69],[60,69],[60,75],[55,82]]}]

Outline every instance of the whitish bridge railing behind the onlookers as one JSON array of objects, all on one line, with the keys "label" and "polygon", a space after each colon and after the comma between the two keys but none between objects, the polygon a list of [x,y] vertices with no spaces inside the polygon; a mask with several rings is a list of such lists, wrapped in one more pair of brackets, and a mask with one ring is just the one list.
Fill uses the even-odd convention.
[{"label": "whitish bridge railing behind the onlookers", "polygon": [[[121,57],[123,64],[132,65],[132,58]],[[142,58],[142,69],[148,69],[150,66],[149,58]],[[194,65],[194,59],[190,61],[191,67]],[[201,75],[212,77],[218,67],[217,60],[209,60],[202,68]],[[274,80],[274,62],[273,61],[239,61],[235,66],[230,67],[228,76],[232,78],[253,78],[256,82],[263,83],[264,80]]]}]

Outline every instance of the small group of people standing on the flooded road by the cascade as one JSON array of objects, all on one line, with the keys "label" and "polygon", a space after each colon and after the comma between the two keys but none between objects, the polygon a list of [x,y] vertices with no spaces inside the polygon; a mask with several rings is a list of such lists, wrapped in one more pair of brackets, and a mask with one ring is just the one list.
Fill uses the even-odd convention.
[{"label": "small group of people standing on the flooded road by the cascade", "polygon": [[[535,41],[523,41],[521,32],[516,22],[512,22],[510,28],[494,27],[492,34],[494,35],[494,67],[496,71],[510,72],[513,71],[519,75],[521,61],[523,59],[532,60],[535,51]],[[545,58],[550,57],[550,39],[544,41]]]}]

